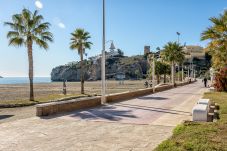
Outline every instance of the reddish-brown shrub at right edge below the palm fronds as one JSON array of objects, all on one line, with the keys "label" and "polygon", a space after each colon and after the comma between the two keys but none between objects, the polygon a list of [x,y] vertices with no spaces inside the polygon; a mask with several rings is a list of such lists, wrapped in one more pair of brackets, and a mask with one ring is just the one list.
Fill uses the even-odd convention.
[{"label": "reddish-brown shrub at right edge below the palm fronds", "polygon": [[217,91],[227,92],[227,67],[222,68],[216,73],[214,86]]}]

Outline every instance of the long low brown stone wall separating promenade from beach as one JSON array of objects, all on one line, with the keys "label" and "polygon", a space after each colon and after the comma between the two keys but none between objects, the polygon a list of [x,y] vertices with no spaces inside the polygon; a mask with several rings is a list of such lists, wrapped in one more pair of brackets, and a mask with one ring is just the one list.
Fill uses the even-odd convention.
[{"label": "long low brown stone wall separating promenade from beach", "polygon": [[[194,81],[193,81],[194,82]],[[191,82],[191,83],[193,83]],[[189,84],[188,82],[178,83],[177,86],[183,86]],[[155,92],[161,92],[173,88],[173,85],[162,85],[155,88]],[[152,88],[139,89],[136,91],[127,91],[123,93],[115,93],[106,96],[107,102],[116,102],[129,100],[132,98],[149,95],[153,93]],[[36,115],[37,116],[48,116],[61,112],[70,112],[77,109],[91,108],[101,105],[101,97],[90,97],[90,98],[81,98],[73,99],[68,101],[61,102],[50,102],[36,105]]]}]

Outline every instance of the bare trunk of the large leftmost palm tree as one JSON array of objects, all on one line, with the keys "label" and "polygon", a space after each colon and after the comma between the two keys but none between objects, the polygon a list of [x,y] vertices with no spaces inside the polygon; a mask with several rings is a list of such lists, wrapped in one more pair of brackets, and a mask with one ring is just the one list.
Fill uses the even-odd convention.
[{"label": "bare trunk of the large leftmost palm tree", "polygon": [[32,54],[32,42],[28,43],[28,64],[29,64],[29,82],[30,82],[30,101],[34,101],[33,92],[33,54]]}]

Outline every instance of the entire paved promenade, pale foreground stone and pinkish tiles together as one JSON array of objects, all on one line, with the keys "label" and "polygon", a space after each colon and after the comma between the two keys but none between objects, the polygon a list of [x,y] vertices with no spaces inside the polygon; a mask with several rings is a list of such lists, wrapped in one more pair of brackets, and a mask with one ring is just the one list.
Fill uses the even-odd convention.
[{"label": "entire paved promenade, pale foreground stone and pinkish tiles together", "polygon": [[199,81],[87,110],[5,122],[0,124],[0,150],[152,150],[177,124],[191,119],[205,91]]}]

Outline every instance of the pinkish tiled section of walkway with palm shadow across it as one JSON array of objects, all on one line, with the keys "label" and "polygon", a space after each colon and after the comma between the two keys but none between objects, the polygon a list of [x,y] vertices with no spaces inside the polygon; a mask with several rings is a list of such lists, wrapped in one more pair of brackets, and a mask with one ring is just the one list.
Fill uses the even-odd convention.
[{"label": "pinkish tiled section of walkway with palm shadow across it", "polygon": [[[129,124],[152,124],[161,116],[170,114],[173,117],[191,115],[191,108],[194,101],[189,101],[193,97],[201,96],[199,86],[196,84],[171,89],[136,99],[122,101],[119,103],[107,104],[99,108],[75,111],[67,113],[64,119],[83,119],[91,121],[105,121]],[[190,103],[188,107],[180,107],[181,104]]]}]

